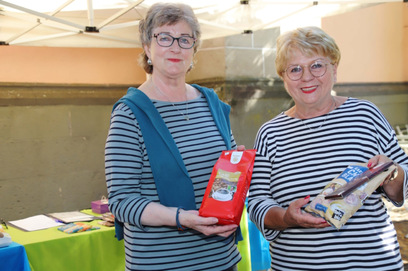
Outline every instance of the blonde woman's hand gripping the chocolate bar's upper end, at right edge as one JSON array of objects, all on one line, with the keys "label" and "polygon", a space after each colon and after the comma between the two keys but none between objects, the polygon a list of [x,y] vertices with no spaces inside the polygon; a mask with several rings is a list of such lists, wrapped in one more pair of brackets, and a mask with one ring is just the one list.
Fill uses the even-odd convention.
[{"label": "blonde woman's hand gripping the chocolate bar's upper end, at right edge", "polygon": [[[370,160],[368,160],[367,167],[371,169],[378,164],[387,162],[393,162],[393,160],[391,160],[384,154],[378,154],[373,156]],[[398,176],[394,180],[389,181],[393,174],[393,171],[390,172],[390,174],[387,176],[387,178],[384,180],[381,186],[391,200],[399,202],[403,199],[402,185],[404,181],[404,171],[398,164],[396,165],[398,167]]]}]

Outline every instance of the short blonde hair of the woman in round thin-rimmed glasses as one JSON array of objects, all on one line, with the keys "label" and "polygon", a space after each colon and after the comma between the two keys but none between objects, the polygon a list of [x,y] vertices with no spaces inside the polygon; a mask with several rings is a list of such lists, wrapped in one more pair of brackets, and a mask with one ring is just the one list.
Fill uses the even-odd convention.
[{"label": "short blonde hair of the woman in round thin-rimmed glasses", "polygon": [[281,34],[276,40],[276,73],[283,79],[285,65],[294,50],[305,56],[315,53],[328,57],[331,63],[339,65],[340,49],[336,41],[317,26],[307,26]]}]

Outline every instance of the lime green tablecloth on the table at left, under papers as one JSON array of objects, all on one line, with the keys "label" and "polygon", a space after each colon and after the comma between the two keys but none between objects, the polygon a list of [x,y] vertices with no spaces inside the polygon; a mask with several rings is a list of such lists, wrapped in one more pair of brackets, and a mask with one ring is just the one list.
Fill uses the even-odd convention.
[{"label": "lime green tablecloth on the table at left, under papers", "polygon": [[[87,211],[87,213],[90,213]],[[47,270],[112,270],[123,271],[123,240],[115,238],[115,228],[97,225],[99,230],[66,234],[57,228],[22,232],[9,227],[6,230],[14,242],[24,246],[31,269]]]}]

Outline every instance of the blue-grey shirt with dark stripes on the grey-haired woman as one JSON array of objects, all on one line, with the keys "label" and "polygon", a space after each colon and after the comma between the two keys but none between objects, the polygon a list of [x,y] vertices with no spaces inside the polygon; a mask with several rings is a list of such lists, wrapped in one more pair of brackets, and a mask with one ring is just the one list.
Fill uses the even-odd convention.
[{"label": "blue-grey shirt with dark stripes on the grey-haired woman", "polygon": [[[215,162],[226,150],[207,100],[200,94],[188,101],[189,121],[170,102],[152,102],[183,157],[198,210]],[[174,105],[186,114],[186,102]],[[237,148],[232,134],[231,145]],[[123,103],[111,116],[105,167],[109,209],[124,223],[126,270],[225,270],[240,261],[235,234],[205,236],[192,229],[141,225],[146,205],[160,201],[139,124]]]}]

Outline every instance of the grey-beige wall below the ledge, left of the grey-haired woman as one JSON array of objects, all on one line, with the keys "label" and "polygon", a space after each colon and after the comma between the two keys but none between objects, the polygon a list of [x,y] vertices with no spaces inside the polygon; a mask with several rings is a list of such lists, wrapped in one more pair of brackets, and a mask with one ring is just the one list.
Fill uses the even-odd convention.
[{"label": "grey-beige wall below the ledge, left of the grey-haired woman", "polygon": [[6,221],[90,208],[107,195],[104,146],[112,107],[0,107],[0,198]]}]

